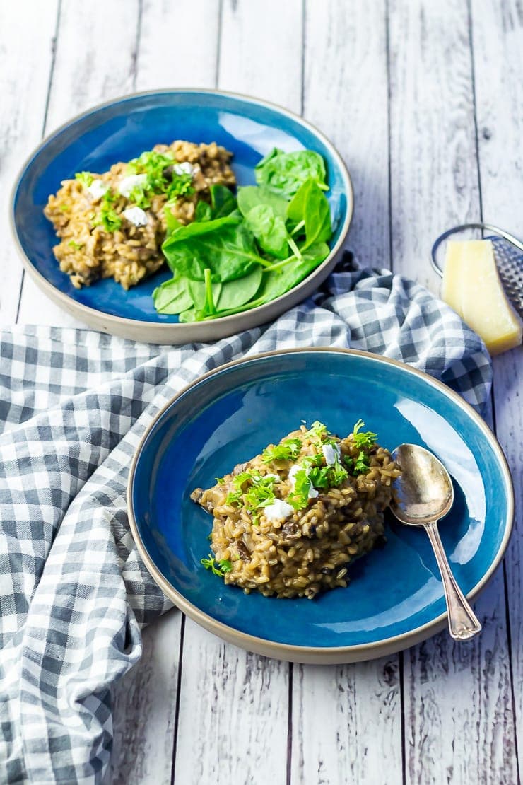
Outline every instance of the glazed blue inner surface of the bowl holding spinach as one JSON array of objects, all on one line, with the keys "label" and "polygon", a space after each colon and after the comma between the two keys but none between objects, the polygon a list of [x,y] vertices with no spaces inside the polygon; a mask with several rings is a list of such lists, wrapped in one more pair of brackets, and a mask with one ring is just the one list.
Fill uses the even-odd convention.
[{"label": "glazed blue inner surface of the bowl holding spinach", "polygon": [[173,323],[177,316],[154,311],[151,294],[171,273],[162,270],[128,292],[112,279],[75,289],[53,256],[57,239],[42,210],[60,182],[78,171],[101,173],[160,142],[175,139],[216,141],[234,153],[238,184],[255,183],[254,166],[273,147],[286,152],[303,148],[323,155],[327,164],[333,225],[331,247],[347,215],[343,175],[331,149],[298,119],[278,108],[220,93],[165,91],[115,101],[69,123],[40,148],[16,187],[14,226],[26,256],[54,287],[90,308],[147,322]]}]

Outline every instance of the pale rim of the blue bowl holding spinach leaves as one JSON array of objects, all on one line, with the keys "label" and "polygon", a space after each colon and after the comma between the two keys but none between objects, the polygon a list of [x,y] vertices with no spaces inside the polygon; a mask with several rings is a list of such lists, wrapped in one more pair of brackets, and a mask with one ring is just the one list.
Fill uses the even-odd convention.
[{"label": "pale rim of the blue bowl holding spinach leaves", "polygon": [[[16,176],[16,179],[13,184],[13,188],[11,188],[11,194],[9,196],[9,226],[11,229],[11,233],[13,235],[16,250],[21,257],[24,268],[27,270],[27,272],[30,273],[31,276],[33,276],[38,286],[41,287],[49,295],[49,297],[52,297],[54,301],[58,302],[58,304],[62,305],[66,310],[74,309],[75,314],[79,318],[82,318],[82,314],[85,314],[87,319],[89,319],[89,317],[99,318],[100,316],[102,316],[105,320],[107,320],[107,325],[129,327],[131,329],[133,328],[140,329],[140,327],[142,327],[144,330],[146,330],[147,327],[148,328],[154,327],[154,329],[156,330],[158,329],[165,330],[165,332],[168,332],[169,330],[173,330],[173,328],[178,327],[180,324],[178,322],[168,322],[168,323],[148,322],[148,321],[144,321],[143,319],[129,319],[128,316],[114,316],[114,314],[106,313],[104,311],[91,308],[90,305],[84,305],[83,303],[78,302],[78,300],[75,300],[69,294],[65,294],[65,292],[60,290],[58,287],[55,287],[53,283],[50,283],[50,281],[46,279],[41,272],[38,271],[34,263],[31,261],[30,257],[27,256],[22,246],[22,243],[20,241],[20,237],[18,236],[18,232],[16,231],[15,201],[16,201],[16,195],[18,193],[18,189],[20,188],[20,181],[22,180],[22,177],[24,177],[27,168],[31,165],[31,163],[35,160],[35,158],[37,158],[40,152],[42,152],[42,150],[45,147],[47,147],[48,144],[54,141],[56,137],[59,137],[60,133],[66,130],[69,126],[72,126],[75,122],[78,122],[86,117],[89,117],[89,115],[94,115],[96,114],[97,111],[114,106],[115,104],[123,104],[126,101],[133,100],[136,98],[155,96],[155,95],[158,96],[169,95],[169,94],[176,95],[178,93],[195,93],[195,94],[203,93],[205,95],[223,96],[227,98],[232,98],[234,100],[242,100],[249,104],[255,104],[256,106],[262,106],[262,107],[268,107],[270,109],[274,109],[275,111],[278,111],[281,115],[285,115],[290,119],[292,119],[294,122],[298,122],[301,126],[305,127],[307,130],[311,131],[316,137],[318,137],[323,142],[323,144],[325,144],[325,147],[329,149],[332,158],[336,160],[336,163],[340,168],[340,173],[343,179],[343,186],[345,188],[345,193],[347,195],[347,212],[343,220],[343,225],[340,229],[340,236],[336,240],[334,246],[332,246],[329,252],[329,256],[324,261],[321,262],[321,265],[318,265],[317,268],[315,268],[311,273],[309,273],[307,278],[304,278],[303,281],[300,281],[300,283],[298,283],[295,287],[292,287],[292,289],[290,289],[288,292],[281,294],[278,298],[274,298],[274,300],[271,300],[270,302],[265,303],[264,305],[258,305],[257,308],[250,309],[250,311],[252,311],[253,314],[256,314],[256,316],[259,318],[258,324],[263,323],[263,318],[260,317],[262,317],[263,314],[266,312],[267,312],[267,319],[271,318],[271,314],[269,312],[271,311],[271,306],[274,305],[274,303],[280,302],[282,298],[287,297],[291,292],[300,291],[300,287],[306,285],[307,281],[311,278],[312,275],[314,275],[315,272],[318,272],[324,269],[327,265],[329,265],[332,262],[332,260],[336,257],[336,254],[339,253],[341,247],[343,246],[343,243],[345,242],[345,239],[347,238],[347,233],[349,231],[350,223],[352,221],[352,217],[354,214],[354,190],[352,188],[350,173],[349,170],[347,169],[345,162],[343,161],[343,158],[341,157],[340,153],[337,151],[334,144],[332,144],[332,142],[325,136],[325,133],[323,133],[316,126],[314,126],[313,123],[308,122],[307,120],[303,119],[303,117],[300,117],[300,115],[296,115],[294,112],[289,111],[289,109],[286,109],[285,107],[282,107],[279,104],[274,104],[272,101],[252,97],[244,93],[233,93],[228,90],[216,90],[216,89],[199,88],[199,87],[196,88],[173,87],[173,88],[156,89],[156,90],[139,90],[134,93],[129,93],[128,95],[118,96],[116,98],[113,98],[112,100],[107,100],[101,104],[96,104],[95,106],[80,112],[78,115],[74,115],[74,117],[68,119],[66,122],[63,122],[55,130],[49,133],[44,139],[42,139],[40,144],[38,144],[38,146],[34,148],[33,151],[30,153],[30,155],[27,156],[27,159],[25,159],[23,165],[21,166]],[[247,312],[248,311],[242,313],[247,313]],[[213,319],[213,322],[218,323],[220,325],[227,325],[227,324],[232,325],[234,324],[234,320],[237,318],[238,318],[237,314],[233,314],[232,316],[220,316],[219,319]],[[192,324],[191,327],[194,327],[194,324]]]}]

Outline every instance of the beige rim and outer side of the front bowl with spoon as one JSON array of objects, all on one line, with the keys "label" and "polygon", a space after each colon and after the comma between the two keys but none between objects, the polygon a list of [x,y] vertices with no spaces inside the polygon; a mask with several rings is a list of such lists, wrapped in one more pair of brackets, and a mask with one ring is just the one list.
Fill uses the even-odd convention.
[{"label": "beige rim and outer side of the front bowl with spoon", "polygon": [[[350,662],[354,661],[355,659],[375,659],[381,655],[398,652],[403,648],[409,648],[409,646],[412,644],[426,640],[431,636],[431,634],[441,630],[442,626],[445,624],[447,612],[445,611],[441,613],[430,622],[417,626],[414,629],[409,630],[409,632],[400,633],[399,635],[382,638],[380,641],[372,641],[365,644],[353,644],[349,646],[301,646],[299,644],[278,643],[277,641],[271,641],[269,638],[257,637],[255,635],[251,635],[250,633],[244,633],[242,630],[237,630],[233,626],[218,621],[213,616],[200,610],[200,608],[183,597],[183,594],[176,590],[174,586],[162,575],[162,573],[154,564],[154,561],[149,556],[147,548],[144,546],[143,540],[141,539],[140,532],[138,531],[138,526],[136,524],[136,519],[134,517],[134,477],[143,446],[149,434],[151,433],[151,430],[154,428],[154,425],[156,425],[158,420],[162,418],[165,411],[167,411],[169,407],[172,406],[178,398],[180,398],[180,396],[184,395],[192,387],[199,384],[199,382],[215,376],[216,374],[220,374],[222,371],[225,371],[228,368],[244,363],[249,363],[252,360],[261,360],[271,356],[297,354],[303,352],[336,352],[353,356],[363,356],[375,362],[381,362],[400,367],[402,371],[420,377],[425,382],[429,382],[430,385],[434,386],[436,389],[441,390],[445,396],[448,396],[451,400],[454,401],[454,403],[457,403],[457,405],[462,408],[463,411],[465,411],[472,420],[474,420],[475,424],[478,425],[481,433],[483,433],[486,440],[488,441],[488,444],[490,444],[492,450],[496,454],[499,467],[505,480],[507,487],[507,517],[505,519],[505,531],[503,532],[503,539],[499,544],[496,556],[492,559],[492,563],[488,567],[488,570],[485,571],[485,574],[467,593],[467,598],[474,599],[474,597],[478,595],[478,593],[491,579],[492,574],[494,571],[496,571],[496,568],[503,559],[510,540],[510,535],[514,528],[514,484],[512,482],[512,476],[510,475],[507,458],[505,458],[499,441],[496,439],[494,433],[492,433],[492,430],[488,428],[485,420],[483,420],[478,412],[476,412],[474,408],[470,406],[470,403],[467,403],[467,401],[463,400],[463,398],[459,396],[457,392],[454,392],[454,390],[450,389],[443,382],[440,382],[438,379],[429,376],[429,374],[426,374],[424,371],[419,371],[418,368],[413,368],[406,363],[401,363],[399,360],[393,360],[390,357],[383,357],[378,354],[373,354],[372,352],[364,352],[361,349],[342,349],[339,347],[317,346],[311,348],[277,349],[273,352],[260,352],[259,354],[244,357],[240,360],[232,360],[230,363],[223,363],[223,365],[220,365],[213,371],[208,371],[206,374],[203,374],[197,379],[194,379],[194,382],[191,382],[191,384],[183,387],[183,389],[181,389],[180,392],[176,394],[176,396],[173,396],[173,398],[171,398],[168,403],[165,403],[165,406],[163,406],[162,409],[158,411],[158,414],[154,416],[154,419],[151,421],[151,423],[147,425],[147,429],[145,430],[145,433],[143,433],[143,436],[141,437],[140,442],[136,447],[136,451],[133,455],[133,461],[131,462],[131,467],[129,469],[129,480],[127,484],[127,512],[129,514],[129,524],[133,534],[134,542],[136,542],[136,547],[140,553],[140,557],[142,557],[143,562],[154,581],[158,583],[158,586],[160,586],[167,597],[173,601],[176,607],[180,608],[180,611],[186,613],[191,619],[194,619],[195,622],[203,626],[206,630],[215,633],[218,637],[221,637],[222,639],[225,638],[228,641],[233,641],[236,645],[240,646],[241,648],[245,648],[250,652],[260,652],[261,650],[264,650],[264,655],[272,656],[275,659],[288,659],[294,660],[296,662],[305,661],[300,659],[300,657],[308,659],[309,662],[317,659],[318,663],[326,661],[334,663],[347,661]],[[266,652],[269,653],[267,654]],[[336,655],[341,655],[342,657],[350,656],[350,660],[333,659],[336,657]]]}]

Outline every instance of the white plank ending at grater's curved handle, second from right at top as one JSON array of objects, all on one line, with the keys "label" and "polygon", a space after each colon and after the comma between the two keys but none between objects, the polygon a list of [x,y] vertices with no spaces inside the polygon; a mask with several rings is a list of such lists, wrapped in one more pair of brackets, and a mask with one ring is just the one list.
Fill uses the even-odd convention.
[{"label": "white plank ending at grater's curved handle, second from right at top", "polygon": [[390,2],[390,156],[394,264],[437,290],[430,246],[478,219],[467,5]]}]

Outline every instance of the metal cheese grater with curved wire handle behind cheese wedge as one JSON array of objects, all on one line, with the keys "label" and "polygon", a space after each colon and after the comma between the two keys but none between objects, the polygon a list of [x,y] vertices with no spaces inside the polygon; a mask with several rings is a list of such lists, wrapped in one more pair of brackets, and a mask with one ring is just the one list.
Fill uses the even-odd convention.
[{"label": "metal cheese grater with curved wire handle behind cheese wedge", "polygon": [[432,246],[431,263],[438,276],[443,275],[443,268],[438,261],[438,248],[444,240],[457,232],[465,229],[483,229],[485,232],[492,232],[492,235],[485,236],[485,239],[492,240],[496,267],[498,268],[499,278],[503,283],[503,288],[507,292],[507,297],[514,305],[520,316],[523,316],[523,243],[514,235],[505,232],[492,224],[462,224],[454,226],[439,235]]}]

